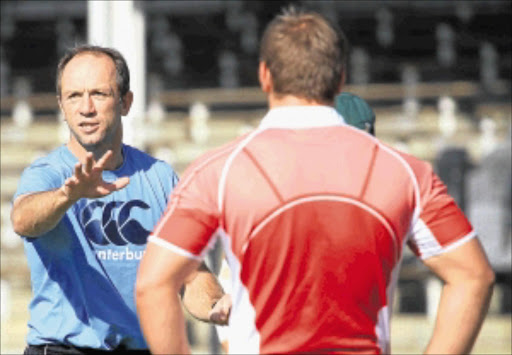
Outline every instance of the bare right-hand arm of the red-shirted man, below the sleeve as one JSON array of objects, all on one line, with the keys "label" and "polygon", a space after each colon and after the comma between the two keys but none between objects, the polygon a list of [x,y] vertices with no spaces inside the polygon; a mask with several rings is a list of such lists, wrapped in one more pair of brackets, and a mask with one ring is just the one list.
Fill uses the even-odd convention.
[{"label": "bare right-hand arm of the red-shirted man, below the sleeve", "polygon": [[426,354],[469,354],[489,307],[494,273],[477,238],[425,260],[443,282]]}]

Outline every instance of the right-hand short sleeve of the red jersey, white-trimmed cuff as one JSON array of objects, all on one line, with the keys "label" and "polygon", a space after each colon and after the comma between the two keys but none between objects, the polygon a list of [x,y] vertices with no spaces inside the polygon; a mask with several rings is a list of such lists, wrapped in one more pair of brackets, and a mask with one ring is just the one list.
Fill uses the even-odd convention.
[{"label": "right-hand short sleeve of the red jersey, white-trimmed cuff", "polygon": [[421,209],[413,220],[408,244],[418,257],[428,259],[456,248],[476,234],[431,165],[423,163],[420,168],[415,172]]}]

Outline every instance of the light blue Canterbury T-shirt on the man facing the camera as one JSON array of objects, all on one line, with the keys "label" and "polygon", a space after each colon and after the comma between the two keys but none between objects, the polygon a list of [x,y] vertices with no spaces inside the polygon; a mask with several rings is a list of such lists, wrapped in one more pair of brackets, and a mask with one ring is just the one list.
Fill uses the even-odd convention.
[{"label": "light blue Canterbury T-shirt on the man facing the camera", "polygon": [[[129,176],[124,189],[98,199],[83,198],[55,228],[23,238],[32,300],[27,342],[95,349],[146,349],[136,315],[134,286],[149,232],[178,182],[165,162],[128,145],[107,182]],[[14,198],[62,186],[76,157],[66,146],[36,160],[20,178]]]}]

